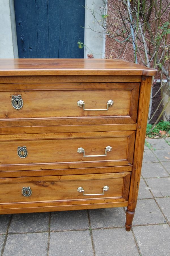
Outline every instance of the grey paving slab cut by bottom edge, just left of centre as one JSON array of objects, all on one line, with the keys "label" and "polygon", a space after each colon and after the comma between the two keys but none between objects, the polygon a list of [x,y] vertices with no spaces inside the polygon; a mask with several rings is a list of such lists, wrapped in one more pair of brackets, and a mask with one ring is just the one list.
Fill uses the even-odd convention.
[{"label": "grey paving slab cut by bottom edge, just left of centre", "polygon": [[49,256],[93,256],[90,231],[50,233]]}]

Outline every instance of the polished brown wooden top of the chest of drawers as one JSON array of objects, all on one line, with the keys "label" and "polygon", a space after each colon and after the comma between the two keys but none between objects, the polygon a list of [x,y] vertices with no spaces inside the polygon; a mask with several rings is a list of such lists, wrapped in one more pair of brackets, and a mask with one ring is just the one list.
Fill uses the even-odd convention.
[{"label": "polished brown wooden top of the chest of drawers", "polygon": [[122,59],[0,59],[0,75],[155,75]]}]

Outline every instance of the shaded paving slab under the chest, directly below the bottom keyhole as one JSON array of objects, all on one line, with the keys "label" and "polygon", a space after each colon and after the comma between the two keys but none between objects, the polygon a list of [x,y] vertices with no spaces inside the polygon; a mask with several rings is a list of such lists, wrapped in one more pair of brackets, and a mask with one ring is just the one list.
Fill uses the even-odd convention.
[{"label": "shaded paving slab under the chest, directly below the bottom keyhole", "polygon": [[8,233],[48,231],[49,217],[50,213],[14,214]]}]

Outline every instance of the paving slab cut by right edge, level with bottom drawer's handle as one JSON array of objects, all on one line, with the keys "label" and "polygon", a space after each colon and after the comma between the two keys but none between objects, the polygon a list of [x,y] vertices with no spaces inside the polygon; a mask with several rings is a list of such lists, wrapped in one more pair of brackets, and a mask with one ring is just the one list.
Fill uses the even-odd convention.
[{"label": "paving slab cut by right edge, level with bottom drawer's handle", "polygon": [[170,177],[160,179],[146,179],[146,182],[151,188],[154,197],[170,196]]}]

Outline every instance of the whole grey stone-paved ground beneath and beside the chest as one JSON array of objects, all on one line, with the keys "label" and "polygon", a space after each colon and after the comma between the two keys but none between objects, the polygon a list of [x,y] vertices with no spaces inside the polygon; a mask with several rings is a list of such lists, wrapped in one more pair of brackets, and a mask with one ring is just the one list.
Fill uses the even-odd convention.
[{"label": "whole grey stone-paved ground beneath and beside the chest", "polygon": [[1,255],[170,255],[170,138],[146,141],[130,232],[124,208],[0,215]]}]

